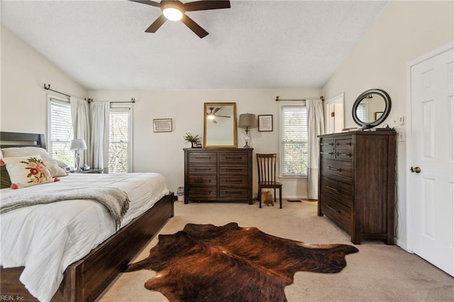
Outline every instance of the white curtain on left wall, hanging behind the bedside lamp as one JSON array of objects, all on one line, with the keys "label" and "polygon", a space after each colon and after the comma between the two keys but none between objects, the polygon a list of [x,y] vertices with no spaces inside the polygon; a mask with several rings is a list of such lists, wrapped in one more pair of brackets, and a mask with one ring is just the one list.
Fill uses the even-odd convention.
[{"label": "white curtain on left wall, hanging behind the bedside lamp", "polygon": [[71,118],[74,138],[83,138],[87,143],[87,150],[80,150],[80,165],[92,165],[90,157],[90,124],[89,124],[89,104],[84,99],[70,97]]}]

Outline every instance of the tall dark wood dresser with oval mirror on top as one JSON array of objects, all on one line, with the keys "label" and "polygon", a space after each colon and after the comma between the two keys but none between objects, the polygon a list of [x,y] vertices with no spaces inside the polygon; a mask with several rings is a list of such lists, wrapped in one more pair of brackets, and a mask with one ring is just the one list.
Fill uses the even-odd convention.
[{"label": "tall dark wood dresser with oval mirror on top", "polygon": [[394,244],[395,131],[319,135],[319,216],[351,235]]}]

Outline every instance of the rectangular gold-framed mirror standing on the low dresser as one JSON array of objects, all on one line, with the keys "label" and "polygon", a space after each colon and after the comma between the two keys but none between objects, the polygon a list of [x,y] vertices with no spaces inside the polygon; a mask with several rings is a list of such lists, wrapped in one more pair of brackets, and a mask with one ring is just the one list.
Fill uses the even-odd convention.
[{"label": "rectangular gold-framed mirror standing on the low dresser", "polygon": [[204,147],[236,145],[236,103],[205,103]]}]

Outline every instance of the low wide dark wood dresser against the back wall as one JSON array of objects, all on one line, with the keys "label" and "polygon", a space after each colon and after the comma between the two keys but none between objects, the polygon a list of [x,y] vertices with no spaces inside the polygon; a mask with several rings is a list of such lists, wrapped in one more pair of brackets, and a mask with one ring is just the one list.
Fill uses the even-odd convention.
[{"label": "low wide dark wood dresser against the back wall", "polygon": [[184,203],[253,204],[253,148],[184,149]]}]

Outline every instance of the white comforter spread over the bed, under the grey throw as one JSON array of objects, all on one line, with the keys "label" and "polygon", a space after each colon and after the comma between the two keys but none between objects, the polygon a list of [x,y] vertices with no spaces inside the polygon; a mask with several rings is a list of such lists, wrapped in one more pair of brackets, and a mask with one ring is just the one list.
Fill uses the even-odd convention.
[{"label": "white comforter spread over the bed, under the grey throw", "polygon": [[[39,194],[48,186],[124,189],[131,204],[121,227],[169,194],[165,178],[157,173],[70,174],[52,184],[1,189],[0,198],[25,191]],[[115,233],[114,220],[106,208],[82,199],[18,208],[1,214],[0,223],[0,264],[4,268],[24,266],[20,280],[40,301],[50,301],[68,265]]]}]

